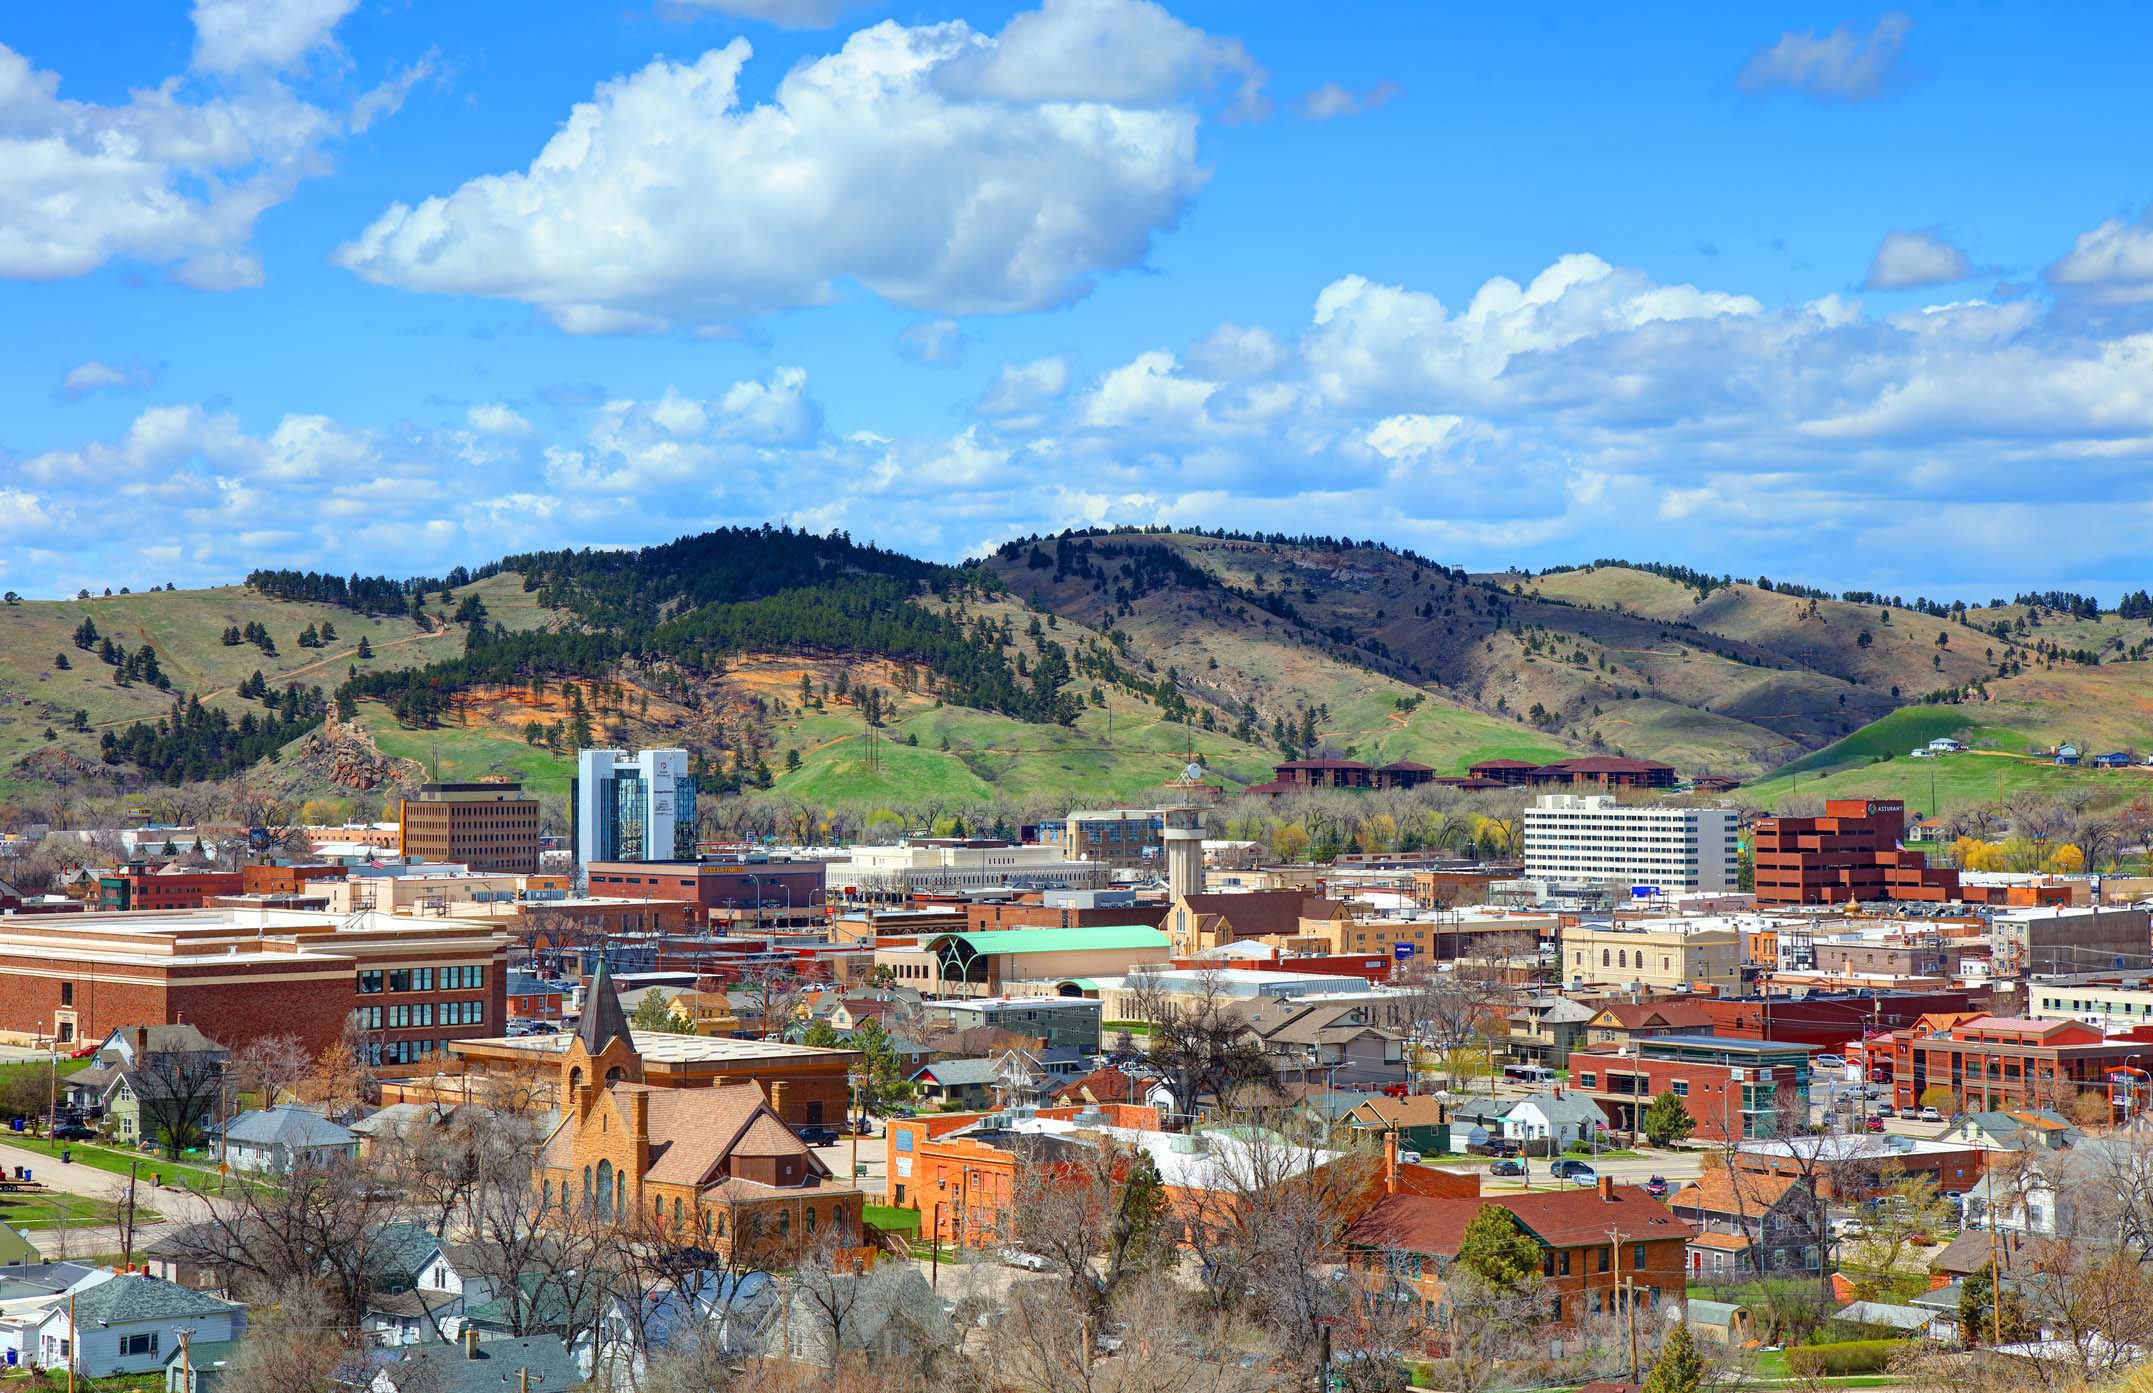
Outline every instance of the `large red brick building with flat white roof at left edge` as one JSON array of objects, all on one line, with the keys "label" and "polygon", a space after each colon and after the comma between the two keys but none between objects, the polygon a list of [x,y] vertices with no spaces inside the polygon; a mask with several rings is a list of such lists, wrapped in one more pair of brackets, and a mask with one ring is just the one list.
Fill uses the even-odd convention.
[{"label": "large red brick building with flat white roof at left edge", "polygon": [[[235,872],[237,874],[237,872]],[[482,924],[301,911],[164,911],[0,921],[0,1036],[99,1040],[187,1023],[224,1046],[332,1044],[364,1012],[385,1072],[506,1027],[508,934]]]}]

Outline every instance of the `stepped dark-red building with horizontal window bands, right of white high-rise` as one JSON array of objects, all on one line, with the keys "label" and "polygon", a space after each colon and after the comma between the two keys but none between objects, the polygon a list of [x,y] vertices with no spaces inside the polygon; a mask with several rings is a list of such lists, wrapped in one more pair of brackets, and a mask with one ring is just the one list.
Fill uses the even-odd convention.
[{"label": "stepped dark-red building with horizontal window bands, right of white high-rise", "polygon": [[1755,835],[1757,904],[1959,898],[1959,872],[1901,850],[1897,799],[1828,799],[1821,818],[1759,818]]}]

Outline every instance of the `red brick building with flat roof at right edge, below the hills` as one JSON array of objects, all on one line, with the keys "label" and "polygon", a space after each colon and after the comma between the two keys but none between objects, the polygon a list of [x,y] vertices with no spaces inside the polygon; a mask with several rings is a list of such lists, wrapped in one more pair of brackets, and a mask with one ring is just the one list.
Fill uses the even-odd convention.
[{"label": "red brick building with flat roof at right edge, below the hills", "polygon": [[2119,1064],[2153,1066],[2153,1027],[2106,1036],[2084,1021],[1927,1016],[1892,1031],[1890,1051],[1897,1107],[1920,1107],[1927,1089],[1946,1087],[1957,1111],[2035,1109],[2082,1092],[2106,1096]]}]

